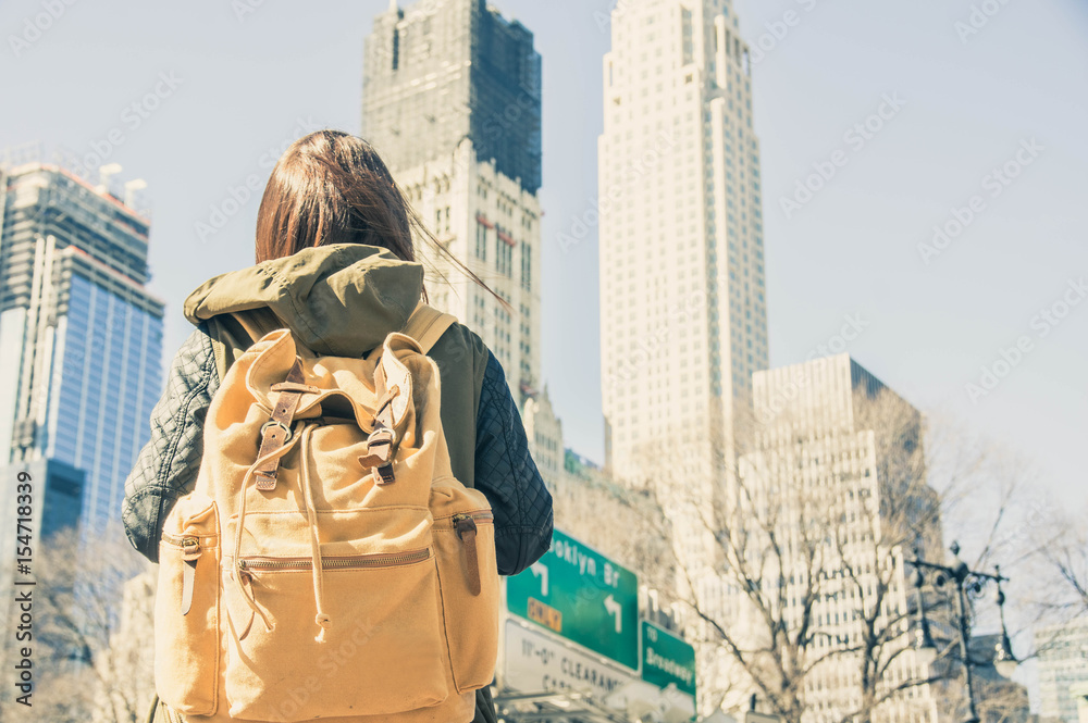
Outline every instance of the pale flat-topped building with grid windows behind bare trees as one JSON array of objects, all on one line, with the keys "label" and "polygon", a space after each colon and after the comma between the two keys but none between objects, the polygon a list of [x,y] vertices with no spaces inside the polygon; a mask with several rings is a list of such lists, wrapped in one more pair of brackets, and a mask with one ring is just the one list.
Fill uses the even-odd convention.
[{"label": "pale flat-topped building with grid windows behind bare trees", "polygon": [[[948,694],[954,684],[927,683],[939,675],[904,650],[917,614],[904,560],[915,549],[942,558],[922,415],[848,354],[757,372],[753,411],[759,424],[729,496],[749,537],[725,574],[730,608],[754,623],[744,643],[769,635],[766,611],[741,593],[749,576],[764,599],[780,601],[771,614],[789,635],[809,631],[798,650],[812,665],[803,721],[864,716],[866,700],[882,700],[866,720],[952,720],[942,701],[962,699]],[[869,696],[863,677],[873,681]],[[903,690],[889,695],[894,686]]]}]

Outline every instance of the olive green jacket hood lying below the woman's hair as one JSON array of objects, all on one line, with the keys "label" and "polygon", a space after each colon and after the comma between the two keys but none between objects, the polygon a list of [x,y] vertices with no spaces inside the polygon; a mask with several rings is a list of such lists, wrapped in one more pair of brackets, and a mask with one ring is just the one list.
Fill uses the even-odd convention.
[{"label": "olive green jacket hood lying below the woman's hair", "polygon": [[268,309],[314,352],[359,357],[404,327],[422,292],[422,264],[338,244],[215,276],[185,300],[185,317]]}]

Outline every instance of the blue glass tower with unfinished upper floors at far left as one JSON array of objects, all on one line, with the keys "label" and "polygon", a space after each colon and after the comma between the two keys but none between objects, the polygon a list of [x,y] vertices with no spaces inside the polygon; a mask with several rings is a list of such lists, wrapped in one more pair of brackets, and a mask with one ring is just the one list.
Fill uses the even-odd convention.
[{"label": "blue glass tower with unfinished upper floors at far left", "polygon": [[161,391],[149,222],[41,163],[0,171],[0,465],[81,471],[79,521],[94,534],[119,519]]}]

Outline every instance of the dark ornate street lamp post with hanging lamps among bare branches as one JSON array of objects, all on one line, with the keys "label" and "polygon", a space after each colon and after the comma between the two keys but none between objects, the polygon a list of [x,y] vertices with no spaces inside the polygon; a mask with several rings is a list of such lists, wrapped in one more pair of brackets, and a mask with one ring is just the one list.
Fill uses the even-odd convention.
[{"label": "dark ornate street lamp post with hanging lamps among bare branches", "polygon": [[993,665],[998,673],[1007,677],[1016,668],[1016,658],[1013,656],[1012,645],[1009,640],[1009,632],[1005,628],[1005,594],[1001,589],[1001,583],[1009,578],[1001,574],[1001,568],[996,566],[993,573],[972,570],[967,563],[960,559],[960,545],[952,543],[952,554],[955,562],[952,565],[943,565],[936,562],[923,560],[917,548],[914,550],[914,559],[907,560],[907,564],[914,566],[914,586],[918,596],[918,629],[915,632],[915,647],[924,664],[934,662],[937,658],[937,645],[929,631],[929,620],[926,618],[925,598],[922,588],[926,583],[926,576],[932,577],[934,586],[943,588],[950,581],[955,585],[951,596],[955,606],[956,631],[960,637],[960,658],[963,661],[964,683],[967,686],[967,720],[964,723],[979,723],[978,711],[975,708],[975,687],[972,668],[979,661],[972,660],[968,649],[970,640],[970,609],[967,606],[967,595],[977,597],[990,583],[996,583],[998,588],[997,603],[1001,613],[1001,639],[998,643]]}]

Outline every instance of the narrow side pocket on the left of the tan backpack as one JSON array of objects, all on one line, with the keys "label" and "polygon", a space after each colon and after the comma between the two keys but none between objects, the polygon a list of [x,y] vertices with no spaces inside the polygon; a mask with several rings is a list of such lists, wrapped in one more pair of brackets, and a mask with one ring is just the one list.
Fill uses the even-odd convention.
[{"label": "narrow side pocket on the left of the tan backpack", "polygon": [[[169,532],[165,532],[169,531]],[[218,707],[220,534],[215,503],[184,497],[159,543],[154,681],[172,709],[210,715]]]}]

